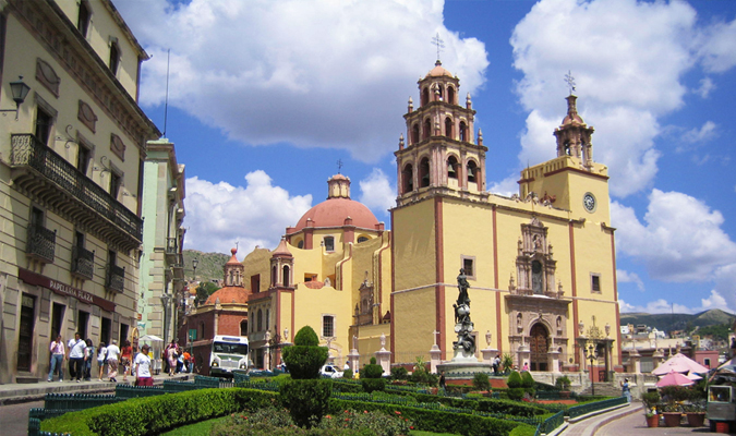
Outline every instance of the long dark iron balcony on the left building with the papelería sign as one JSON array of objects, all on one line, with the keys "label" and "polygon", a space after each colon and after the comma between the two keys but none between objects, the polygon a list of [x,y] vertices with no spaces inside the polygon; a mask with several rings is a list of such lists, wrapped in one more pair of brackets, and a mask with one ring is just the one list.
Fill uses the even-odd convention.
[{"label": "long dark iron balcony on the left building with the papeler\u00eda sign", "polygon": [[123,250],[142,242],[143,220],[32,134],[11,135],[16,190]]}]

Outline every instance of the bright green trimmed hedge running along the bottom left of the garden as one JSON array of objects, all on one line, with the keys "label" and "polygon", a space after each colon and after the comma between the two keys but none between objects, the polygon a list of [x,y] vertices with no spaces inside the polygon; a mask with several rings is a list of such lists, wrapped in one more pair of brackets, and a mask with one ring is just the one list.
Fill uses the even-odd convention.
[{"label": "bright green trimmed hedge running along the bottom left of the garden", "polygon": [[277,402],[273,392],[242,389],[200,389],[67,413],[41,422],[41,431],[74,436],[146,436],[198,421],[224,416],[246,408]]}]

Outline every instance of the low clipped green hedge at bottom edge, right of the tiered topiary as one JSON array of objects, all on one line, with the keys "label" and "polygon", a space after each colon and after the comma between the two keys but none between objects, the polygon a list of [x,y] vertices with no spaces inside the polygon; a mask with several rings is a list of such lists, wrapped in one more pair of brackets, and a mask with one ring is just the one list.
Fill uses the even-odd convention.
[{"label": "low clipped green hedge at bottom edge, right of the tiered topiary", "polygon": [[531,434],[534,434],[534,427],[531,425],[514,421],[498,420],[495,417],[470,415],[467,413],[442,412],[437,410],[414,409],[411,407],[396,404],[338,400],[335,398],[330,398],[329,400],[329,413],[337,415],[350,409],[358,411],[378,410],[388,414],[400,414],[402,417],[409,419],[413,423],[415,429],[433,433],[455,433],[473,436],[507,436],[511,433],[511,431],[514,431],[514,428],[524,426],[531,428]]}]

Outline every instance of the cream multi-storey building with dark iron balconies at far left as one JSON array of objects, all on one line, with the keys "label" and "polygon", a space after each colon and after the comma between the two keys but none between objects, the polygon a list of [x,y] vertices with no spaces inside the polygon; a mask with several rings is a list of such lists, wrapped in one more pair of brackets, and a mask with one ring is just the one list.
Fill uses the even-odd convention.
[{"label": "cream multi-storey building with dark iron balconies at far left", "polygon": [[0,383],[45,378],[49,343],[136,323],[148,56],[108,0],[0,1]]}]

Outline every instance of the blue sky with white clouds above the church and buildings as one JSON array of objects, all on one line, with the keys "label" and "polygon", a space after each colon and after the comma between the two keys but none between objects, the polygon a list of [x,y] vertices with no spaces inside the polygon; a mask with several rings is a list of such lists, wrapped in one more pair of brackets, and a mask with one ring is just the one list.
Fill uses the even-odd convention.
[{"label": "blue sky with white clouds above the church and buildings", "polygon": [[[491,192],[554,157],[571,71],[610,168],[625,312],[736,312],[736,2],[118,0],[186,165],[186,249],[274,249],[338,170],[389,225],[407,101],[445,48]],[[124,55],[124,53],[123,53]]]}]

